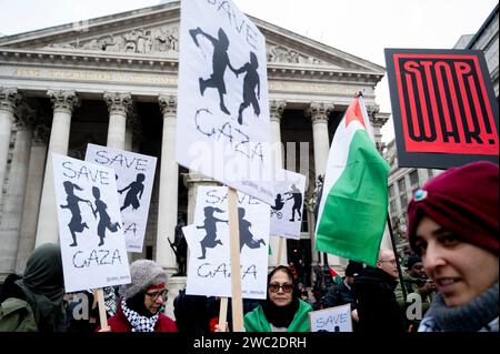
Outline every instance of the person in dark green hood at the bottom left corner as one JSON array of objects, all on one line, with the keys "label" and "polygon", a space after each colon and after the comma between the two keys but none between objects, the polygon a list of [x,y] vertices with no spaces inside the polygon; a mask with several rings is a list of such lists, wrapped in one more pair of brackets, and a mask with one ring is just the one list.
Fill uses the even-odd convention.
[{"label": "person in dark green hood at the bottom left corner", "polygon": [[0,304],[0,332],[66,332],[61,250],[44,243],[33,250],[22,277],[10,283]]}]

